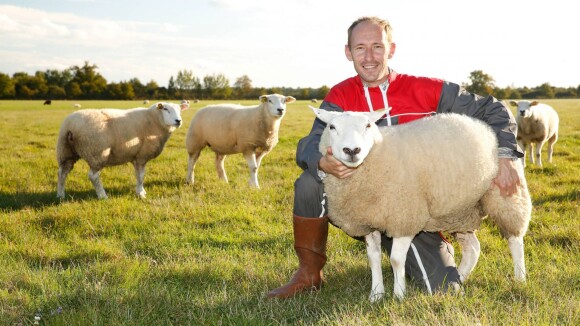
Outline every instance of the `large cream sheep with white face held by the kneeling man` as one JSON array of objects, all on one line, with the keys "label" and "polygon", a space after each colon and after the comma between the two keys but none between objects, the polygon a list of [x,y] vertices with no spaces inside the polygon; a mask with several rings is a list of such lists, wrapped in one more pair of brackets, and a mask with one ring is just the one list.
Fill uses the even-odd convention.
[{"label": "large cream sheep with white face held by the kneeling man", "polygon": [[[379,131],[384,112],[329,112],[312,108],[327,123],[321,153],[333,155],[356,172],[324,179],[330,219],[351,236],[365,236],[372,273],[370,300],[383,297],[380,232],[393,237],[394,295],[405,294],[405,259],[420,231],[456,233],[463,258],[458,271],[467,279],[479,258],[475,230],[484,215],[507,238],[515,279],[525,281],[523,236],[531,201],[523,167],[521,186],[504,198],[492,185],[497,175],[497,140],[483,122],[439,114]],[[363,163],[364,160],[364,163]],[[355,195],[356,194],[356,195]]]}]

